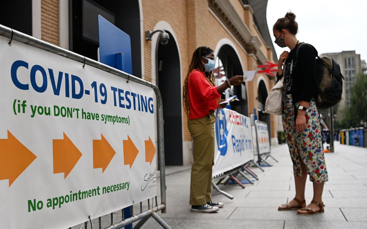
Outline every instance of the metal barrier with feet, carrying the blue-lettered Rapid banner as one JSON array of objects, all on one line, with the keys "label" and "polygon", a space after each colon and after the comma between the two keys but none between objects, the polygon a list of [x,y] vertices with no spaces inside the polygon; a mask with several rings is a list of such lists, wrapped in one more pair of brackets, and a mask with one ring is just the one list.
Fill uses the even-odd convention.
[{"label": "metal barrier with feet, carrying the blue-lettered Rapid banner", "polygon": [[258,180],[256,174],[247,169],[247,166],[254,161],[251,119],[229,109],[217,109],[215,115],[217,118],[214,129],[217,144],[215,145],[212,186],[219,193],[233,199],[232,195],[222,191],[218,185],[226,185],[232,180],[241,188],[245,188],[243,183],[236,178],[238,174],[250,184],[254,184],[254,181],[249,176]]}]

